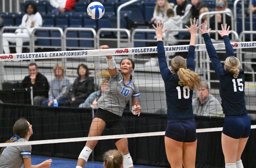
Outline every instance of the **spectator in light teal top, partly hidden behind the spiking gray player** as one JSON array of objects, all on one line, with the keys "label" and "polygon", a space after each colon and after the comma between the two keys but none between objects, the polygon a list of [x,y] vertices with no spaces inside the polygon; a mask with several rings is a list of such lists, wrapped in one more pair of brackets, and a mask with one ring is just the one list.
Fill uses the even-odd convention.
[{"label": "spectator in light teal top, partly hidden behind the spiking gray player", "polygon": [[101,76],[104,79],[100,82],[100,90],[93,92],[89,97],[86,99],[86,101],[82,104],[79,105],[80,108],[95,108],[98,109],[97,107],[97,101],[101,97],[104,91],[108,89],[108,78],[106,78],[106,74],[109,74],[108,70],[101,70],[96,74],[96,76]]}]

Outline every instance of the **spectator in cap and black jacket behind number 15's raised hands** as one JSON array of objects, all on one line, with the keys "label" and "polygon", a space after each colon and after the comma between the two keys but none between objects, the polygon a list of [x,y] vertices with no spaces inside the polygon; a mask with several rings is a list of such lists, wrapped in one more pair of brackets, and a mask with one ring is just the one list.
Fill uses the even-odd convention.
[{"label": "spectator in cap and black jacket behind number 15's raised hands", "polygon": [[[226,6],[225,6],[224,2],[221,0],[216,4],[215,11],[224,11],[224,10],[226,10]],[[221,14],[221,13],[217,14],[217,29],[218,30],[221,30],[222,23],[231,25],[231,17],[227,14],[225,14],[225,16],[226,16],[226,22],[223,21],[223,14]],[[212,30],[215,30],[215,15],[211,16],[211,18],[210,18],[210,28]],[[231,29],[231,26],[230,26],[230,29]],[[220,39],[221,36],[220,35],[218,35],[218,36]]]}]

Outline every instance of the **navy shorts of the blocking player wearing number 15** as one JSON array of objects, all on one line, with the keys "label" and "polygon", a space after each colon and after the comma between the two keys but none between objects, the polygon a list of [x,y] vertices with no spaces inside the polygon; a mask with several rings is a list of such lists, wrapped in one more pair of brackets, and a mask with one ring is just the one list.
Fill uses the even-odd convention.
[{"label": "navy shorts of the blocking player wearing number 15", "polygon": [[248,114],[225,116],[222,133],[235,139],[249,137],[251,133],[250,117]]}]

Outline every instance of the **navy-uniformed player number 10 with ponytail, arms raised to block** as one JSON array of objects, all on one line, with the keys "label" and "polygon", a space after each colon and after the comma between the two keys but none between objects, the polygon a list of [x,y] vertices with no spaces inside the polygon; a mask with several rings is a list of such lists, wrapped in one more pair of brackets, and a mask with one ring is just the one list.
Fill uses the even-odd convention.
[{"label": "navy-uniformed player number 10 with ponytail, arms raised to block", "polygon": [[193,89],[201,87],[201,79],[195,73],[195,39],[201,26],[197,26],[198,19],[192,23],[190,19],[189,30],[191,37],[187,61],[181,56],[176,56],[168,68],[165,59],[162,34],[164,22],[156,23],[157,49],[159,68],[165,84],[167,101],[167,128],[165,130],[165,150],[171,167],[195,168],[195,155],[197,137],[195,132],[195,119],[192,110]]}]

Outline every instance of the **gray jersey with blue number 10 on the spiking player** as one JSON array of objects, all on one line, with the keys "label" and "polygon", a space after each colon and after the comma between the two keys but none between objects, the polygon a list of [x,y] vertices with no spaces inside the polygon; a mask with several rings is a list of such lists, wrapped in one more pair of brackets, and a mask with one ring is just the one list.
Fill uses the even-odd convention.
[{"label": "gray jersey with blue number 10 on the spiking player", "polygon": [[138,86],[132,80],[125,84],[123,76],[119,72],[117,75],[110,75],[108,89],[98,99],[97,105],[98,108],[122,116],[130,98],[139,99],[139,96]]}]

